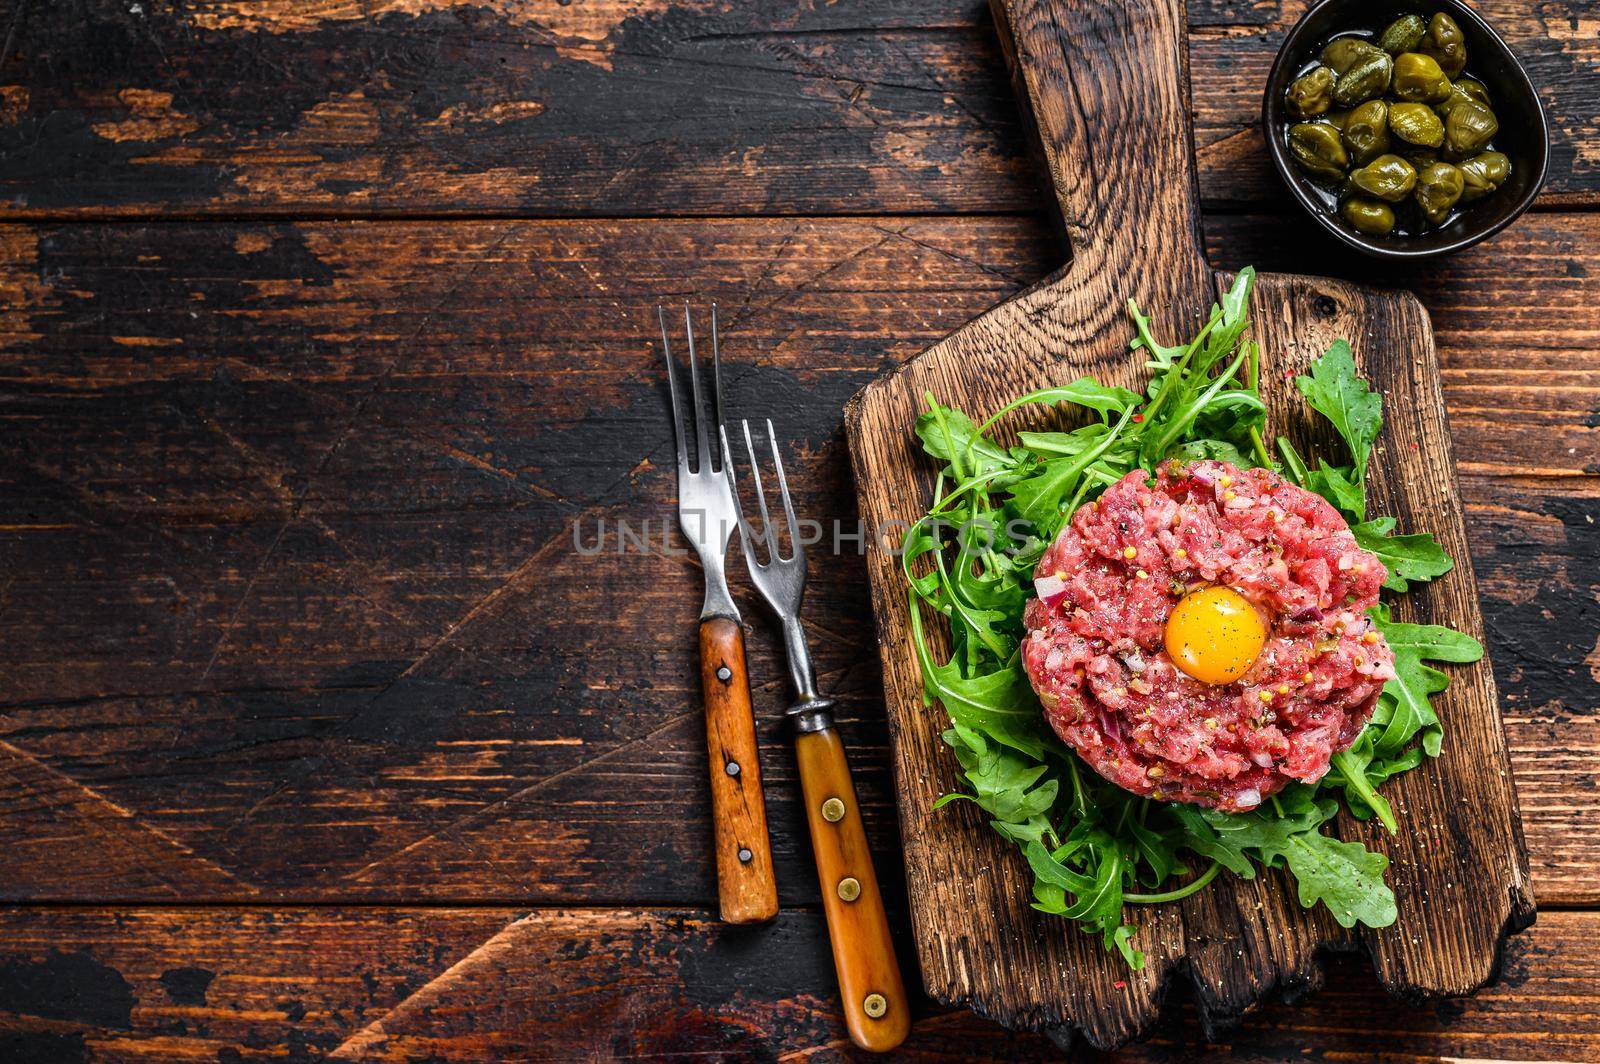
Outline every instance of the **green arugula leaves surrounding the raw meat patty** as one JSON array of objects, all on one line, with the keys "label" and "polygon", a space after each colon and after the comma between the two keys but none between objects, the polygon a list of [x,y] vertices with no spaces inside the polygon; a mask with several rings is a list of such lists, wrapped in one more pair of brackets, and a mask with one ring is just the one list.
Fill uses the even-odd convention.
[{"label": "green arugula leaves surrounding the raw meat patty", "polygon": [[[1344,926],[1394,923],[1389,859],[1325,829],[1342,803],[1357,818],[1376,816],[1398,830],[1379,789],[1435,757],[1443,739],[1429,696],[1448,678],[1427,662],[1483,654],[1467,635],[1394,621],[1387,605],[1374,606],[1370,616],[1395,653],[1397,675],[1371,722],[1317,786],[1293,784],[1250,813],[1130,794],[1085,766],[1045,723],[1019,650],[1034,565],[1080,506],[1134,469],[1154,470],[1168,458],[1266,466],[1350,520],[1362,547],[1389,568],[1387,590],[1403,594],[1451,568],[1432,536],[1397,536],[1394,517],[1368,514],[1366,467],[1382,430],[1382,400],[1357,376],[1344,341],[1296,384],[1342,440],[1347,462],[1302,456],[1282,437],[1275,454],[1269,451],[1259,352],[1245,338],[1253,282],[1253,270],[1240,272],[1205,326],[1181,346],[1162,344],[1130,301],[1131,349],[1149,371],[1144,394],[1080,378],[1022,395],[981,424],[928,395],[917,421],[939,475],[931,507],[906,533],[902,566],[923,693],[949,715],[944,741],[966,782],[938,805],[982,808],[1027,861],[1034,907],[1101,936],[1133,968],[1144,957],[1136,926],[1125,920],[1130,907],[1186,898],[1222,874],[1251,878],[1258,869],[1286,869],[1302,906],[1322,904]],[[1013,446],[990,434],[1013,410],[1062,403],[1088,411],[1086,424],[1021,432]],[[949,626],[942,662],[926,614]]]}]

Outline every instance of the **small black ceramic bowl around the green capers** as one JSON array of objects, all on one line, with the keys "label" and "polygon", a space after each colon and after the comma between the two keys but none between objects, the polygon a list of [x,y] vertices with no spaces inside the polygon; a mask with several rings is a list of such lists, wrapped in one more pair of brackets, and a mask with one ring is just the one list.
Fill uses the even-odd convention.
[{"label": "small black ceramic bowl around the green capers", "polygon": [[[1494,147],[1510,158],[1510,178],[1493,195],[1462,210],[1448,226],[1419,235],[1368,237],[1331,213],[1330,192],[1302,174],[1290,157],[1286,138],[1294,120],[1285,110],[1283,93],[1317,59],[1330,38],[1363,29],[1376,34],[1402,14],[1429,18],[1435,11],[1456,19],[1467,38],[1467,74],[1490,90],[1501,123]],[[1261,102],[1261,131],[1267,138],[1272,163],[1306,213],[1349,246],[1381,259],[1426,259],[1493,237],[1528,210],[1544,184],[1550,160],[1550,131],[1528,72],[1499,34],[1459,0],[1322,0],[1294,24],[1278,50],[1272,74],[1267,75],[1267,94]]]}]

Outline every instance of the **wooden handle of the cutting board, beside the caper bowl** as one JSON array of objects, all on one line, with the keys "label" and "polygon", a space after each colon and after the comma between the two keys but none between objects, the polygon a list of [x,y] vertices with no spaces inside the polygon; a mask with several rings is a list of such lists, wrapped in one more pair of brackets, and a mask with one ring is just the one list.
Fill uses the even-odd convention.
[{"label": "wooden handle of the cutting board, beside the caper bowl", "polygon": [[[1203,290],[1182,0],[990,8],[1038,130],[1074,274],[1104,275],[1141,302]],[[1165,270],[1178,277],[1154,274]]]}]

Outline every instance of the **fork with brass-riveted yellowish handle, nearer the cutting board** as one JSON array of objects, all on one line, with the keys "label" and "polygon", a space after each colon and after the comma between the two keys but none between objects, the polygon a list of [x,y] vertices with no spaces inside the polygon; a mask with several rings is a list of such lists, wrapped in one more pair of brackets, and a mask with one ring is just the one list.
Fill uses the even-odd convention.
[{"label": "fork with brass-riveted yellowish handle, nearer the cutting board", "polygon": [[[762,515],[762,534],[755,534],[741,507],[739,541],[744,546],[750,582],[784,629],[789,678],[797,696],[787,715],[795,726],[795,758],[800,763],[800,787],[805,794],[806,822],[811,827],[816,874],[822,885],[827,938],[834,946],[834,970],[838,973],[838,992],[845,1002],[845,1027],[851,1042],[862,1050],[885,1053],[906,1040],[910,1030],[910,1008],[899,962],[894,958],[878,877],[872,869],[872,853],[867,850],[867,834],[861,826],[861,808],[850,779],[845,744],[834,728],[834,701],[818,694],[811,648],[800,626],[806,582],[800,522],[795,518],[789,482],[784,478],[778,434],[768,419],[766,438],[773,451],[773,472],[789,528],[786,557],[779,552],[778,530],[766,512],[766,491],[762,486],[760,459],[750,438],[750,422],[741,424],[744,446],[750,456],[755,504]],[[726,429],[722,430],[722,464],[728,472],[733,499],[739,502]],[[765,544],[765,552],[757,549],[758,544]]]}]

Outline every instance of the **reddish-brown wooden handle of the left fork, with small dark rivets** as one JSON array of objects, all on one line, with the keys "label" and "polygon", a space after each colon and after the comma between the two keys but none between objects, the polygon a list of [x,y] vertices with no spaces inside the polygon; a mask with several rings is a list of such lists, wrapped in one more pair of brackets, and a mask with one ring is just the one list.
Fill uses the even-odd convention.
[{"label": "reddish-brown wooden handle of the left fork, with small dark rivets", "polygon": [[710,752],[710,816],[717,837],[717,894],[725,923],[778,915],[778,880],[766,840],[762,762],[755,750],[744,630],[733,618],[701,621],[701,691]]}]

